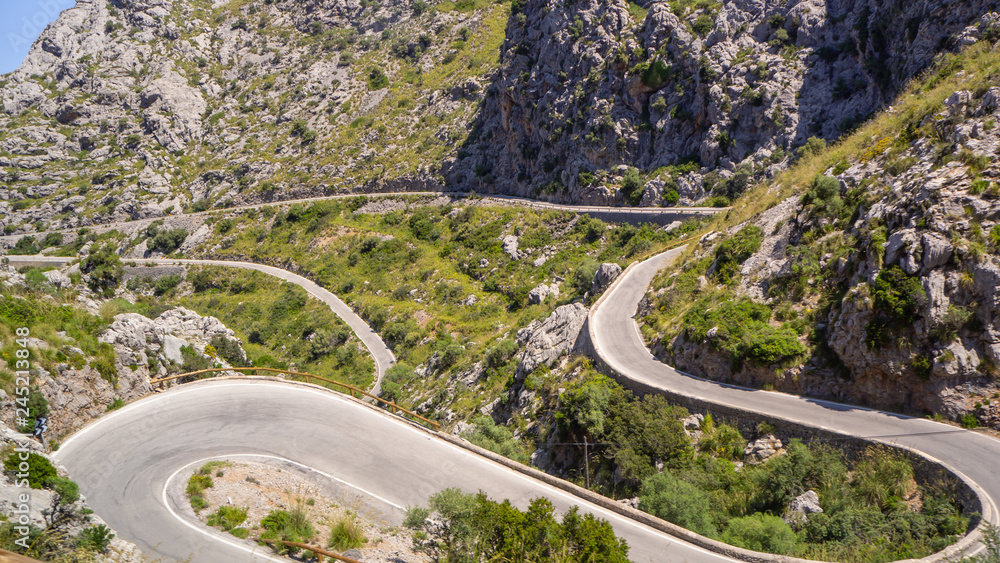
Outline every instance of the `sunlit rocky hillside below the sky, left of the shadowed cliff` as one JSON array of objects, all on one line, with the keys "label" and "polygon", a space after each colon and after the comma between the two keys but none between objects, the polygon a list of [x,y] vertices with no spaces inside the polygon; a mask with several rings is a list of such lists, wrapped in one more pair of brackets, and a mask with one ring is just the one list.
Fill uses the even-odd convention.
[{"label": "sunlit rocky hillside below the sky, left of the shadowed cliff", "polygon": [[507,7],[80,3],[0,80],[7,232],[430,178]]}]

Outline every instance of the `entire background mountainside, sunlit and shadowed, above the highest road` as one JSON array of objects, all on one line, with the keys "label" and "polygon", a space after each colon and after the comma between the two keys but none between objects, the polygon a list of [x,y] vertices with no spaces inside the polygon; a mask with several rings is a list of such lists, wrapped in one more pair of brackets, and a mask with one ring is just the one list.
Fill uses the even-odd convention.
[{"label": "entire background mountainside, sunlit and shadowed, above the highest road", "polygon": [[421,187],[725,203],[991,36],[993,8],[81,2],[0,79],[0,221]]}]

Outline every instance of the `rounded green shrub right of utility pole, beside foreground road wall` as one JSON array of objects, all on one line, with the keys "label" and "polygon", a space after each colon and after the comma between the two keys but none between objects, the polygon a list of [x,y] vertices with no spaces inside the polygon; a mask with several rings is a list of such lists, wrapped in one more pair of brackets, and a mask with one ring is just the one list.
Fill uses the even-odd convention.
[{"label": "rounded green shrub right of utility pole, beside foreground road wall", "polygon": [[642,482],[639,508],[703,536],[715,537],[712,506],[698,487],[670,473],[657,473]]}]

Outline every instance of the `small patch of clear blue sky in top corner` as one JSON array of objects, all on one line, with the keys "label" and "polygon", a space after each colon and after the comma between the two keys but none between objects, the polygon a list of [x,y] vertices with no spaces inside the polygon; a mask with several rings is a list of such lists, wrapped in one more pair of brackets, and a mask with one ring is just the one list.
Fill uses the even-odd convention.
[{"label": "small patch of clear blue sky in top corner", "polygon": [[0,0],[0,74],[21,66],[45,26],[75,0]]}]

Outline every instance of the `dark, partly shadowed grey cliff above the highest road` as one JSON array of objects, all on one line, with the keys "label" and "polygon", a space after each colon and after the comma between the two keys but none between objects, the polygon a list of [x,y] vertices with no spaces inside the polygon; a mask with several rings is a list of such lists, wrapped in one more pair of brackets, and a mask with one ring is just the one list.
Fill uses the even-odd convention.
[{"label": "dark, partly shadowed grey cliff above the highest road", "polygon": [[524,2],[486,88],[478,142],[445,164],[447,178],[523,196],[558,185],[547,197],[622,204],[618,167],[693,158],[703,166],[693,177],[655,180],[640,198],[689,204],[718,178],[772,175],[809,137],[836,138],[926,68],[942,37],[982,37],[996,9],[987,0],[733,0],[692,32],[708,14],[644,6],[637,19],[625,0]]}]

